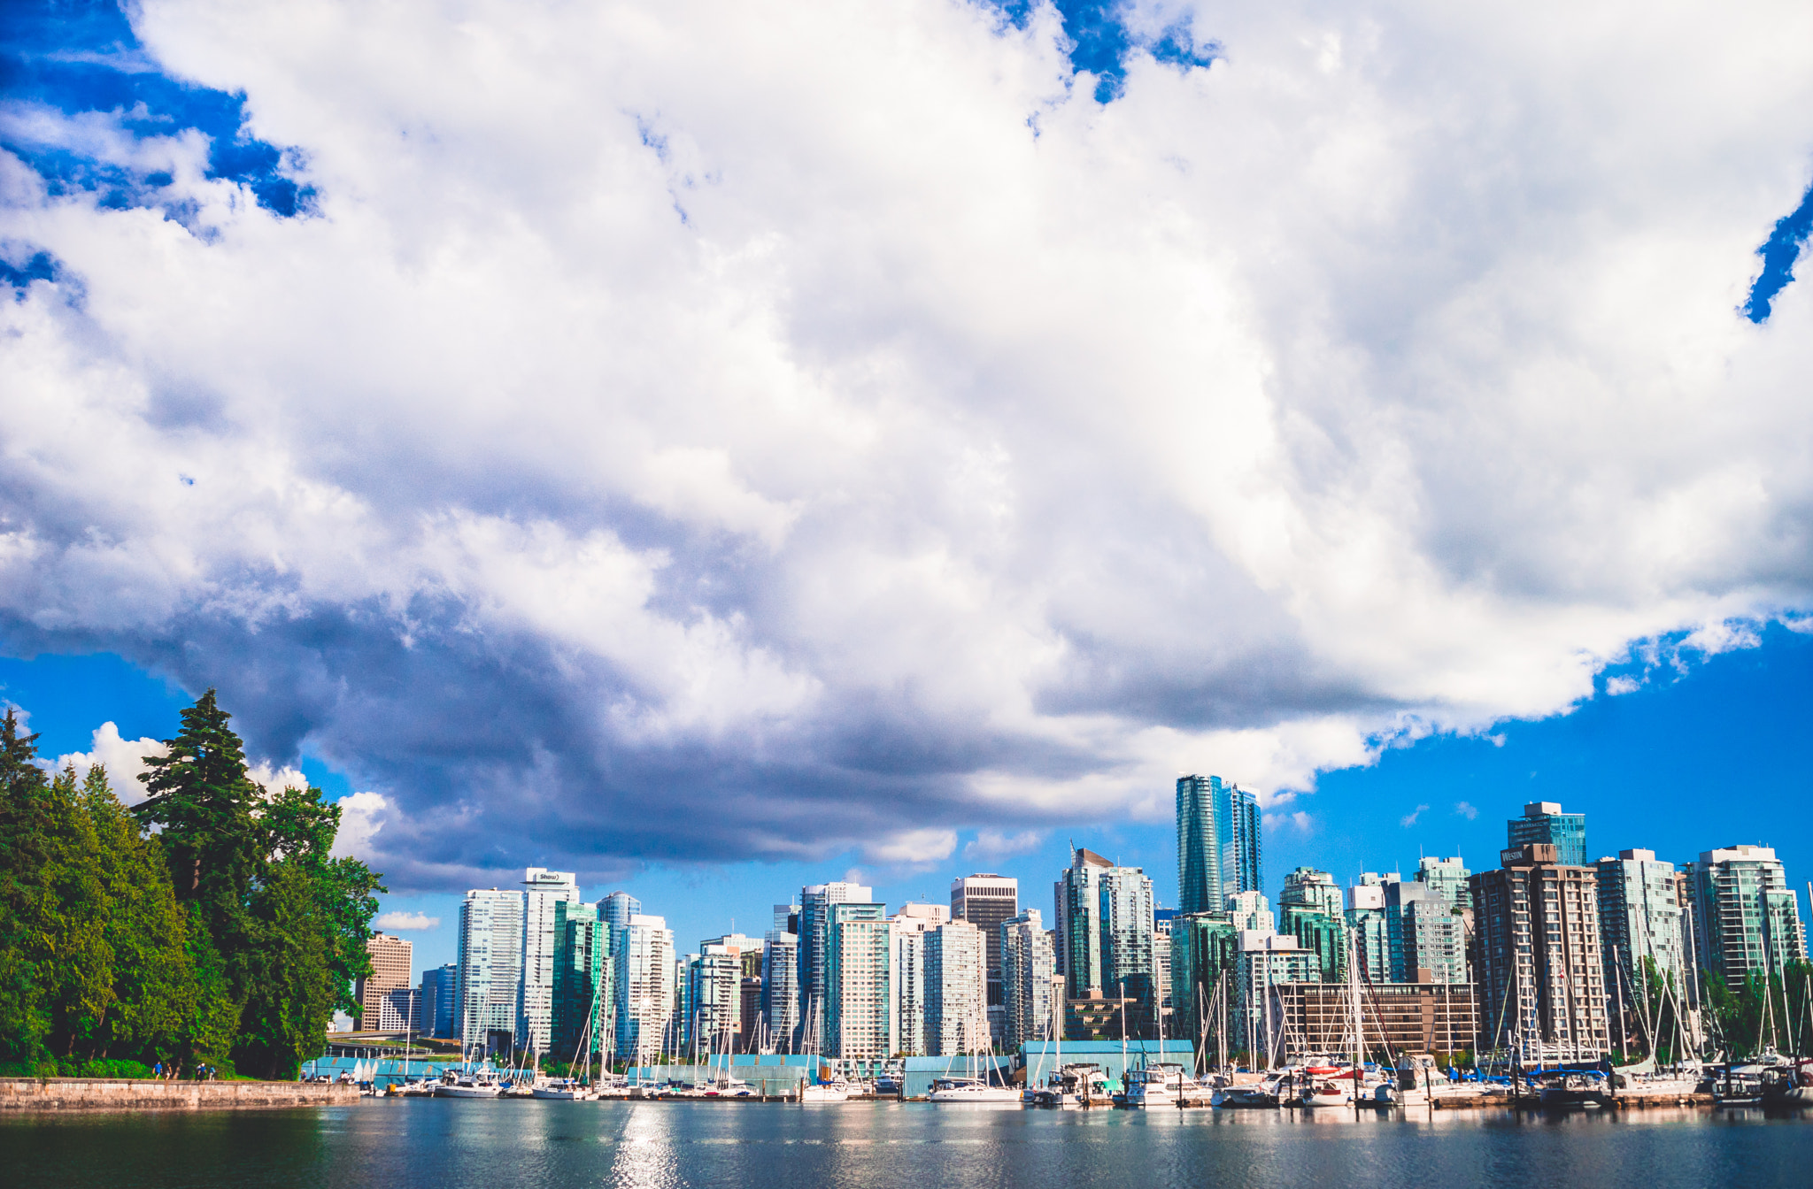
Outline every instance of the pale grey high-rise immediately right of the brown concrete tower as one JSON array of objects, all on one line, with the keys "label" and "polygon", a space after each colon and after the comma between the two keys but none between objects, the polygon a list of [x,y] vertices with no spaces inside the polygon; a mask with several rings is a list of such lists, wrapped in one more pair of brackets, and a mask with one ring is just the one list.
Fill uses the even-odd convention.
[{"label": "pale grey high-rise immediately right of the brown concrete tower", "polygon": [[1657,861],[1653,850],[1621,850],[1615,859],[1599,859],[1597,870],[1605,986],[1614,1015],[1624,1010],[1623,1019],[1612,1020],[1612,1035],[1624,1040],[1644,1019],[1637,1004],[1646,993],[1648,964],[1677,995],[1688,984],[1679,872],[1673,863]]}]

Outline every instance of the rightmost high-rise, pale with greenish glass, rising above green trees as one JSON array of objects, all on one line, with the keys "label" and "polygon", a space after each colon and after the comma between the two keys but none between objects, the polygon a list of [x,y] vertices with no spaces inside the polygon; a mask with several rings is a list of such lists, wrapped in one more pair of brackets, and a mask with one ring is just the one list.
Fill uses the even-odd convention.
[{"label": "rightmost high-rise, pale with greenish glass, rising above green trees", "polygon": [[1806,961],[1800,903],[1771,846],[1702,852],[1690,890],[1699,961],[1733,991],[1753,973]]}]

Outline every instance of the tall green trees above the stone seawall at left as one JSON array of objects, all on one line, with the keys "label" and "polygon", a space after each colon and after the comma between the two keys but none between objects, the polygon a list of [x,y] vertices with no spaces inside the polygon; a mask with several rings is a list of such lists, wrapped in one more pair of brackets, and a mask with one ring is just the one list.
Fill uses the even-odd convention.
[{"label": "tall green trees above the stone seawall at left", "polygon": [[0,1060],[294,1078],[357,1015],[381,875],[332,856],[319,788],[252,781],[230,718],[212,689],[185,709],[129,808],[102,765],[45,772],[5,710]]}]

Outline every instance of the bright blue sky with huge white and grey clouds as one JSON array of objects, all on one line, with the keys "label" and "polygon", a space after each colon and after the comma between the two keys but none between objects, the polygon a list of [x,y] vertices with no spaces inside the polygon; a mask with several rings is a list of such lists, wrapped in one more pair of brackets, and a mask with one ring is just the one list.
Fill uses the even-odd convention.
[{"label": "bright blue sky with huge white and grey clouds", "polygon": [[1178,772],[1273,884],[1808,872],[1809,100],[1797,4],[5,5],[0,692],[131,785],[216,687],[422,955],[1166,899]]}]

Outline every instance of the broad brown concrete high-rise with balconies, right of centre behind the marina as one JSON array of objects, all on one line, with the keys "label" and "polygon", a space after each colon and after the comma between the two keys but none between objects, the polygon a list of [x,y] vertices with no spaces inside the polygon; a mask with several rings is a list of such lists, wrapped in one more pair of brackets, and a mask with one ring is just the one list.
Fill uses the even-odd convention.
[{"label": "broad brown concrete high-rise with balconies, right of centre behind the marina", "polygon": [[1498,870],[1469,879],[1479,1049],[1517,1051],[1525,1064],[1610,1051],[1597,872],[1559,863],[1557,852],[1554,843],[1507,848]]}]

